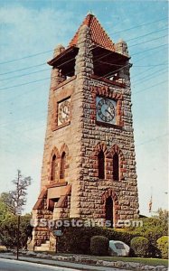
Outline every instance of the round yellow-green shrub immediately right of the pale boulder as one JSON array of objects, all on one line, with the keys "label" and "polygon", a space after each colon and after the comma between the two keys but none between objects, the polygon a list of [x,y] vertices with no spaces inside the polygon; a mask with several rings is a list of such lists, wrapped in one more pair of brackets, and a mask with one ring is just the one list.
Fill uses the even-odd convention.
[{"label": "round yellow-green shrub immediately right of the pale boulder", "polygon": [[149,240],[144,237],[136,237],[131,240],[131,249],[136,257],[147,257]]}]

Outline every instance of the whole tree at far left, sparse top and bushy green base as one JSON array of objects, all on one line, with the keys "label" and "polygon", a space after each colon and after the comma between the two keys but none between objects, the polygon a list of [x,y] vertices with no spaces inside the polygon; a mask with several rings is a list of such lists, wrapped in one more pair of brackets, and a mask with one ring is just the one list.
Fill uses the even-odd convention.
[{"label": "whole tree at far left, sparse top and bushy green base", "polygon": [[26,204],[26,191],[31,184],[31,177],[23,177],[21,171],[18,170],[12,182],[15,189],[3,192],[0,197],[0,239],[8,248],[17,246],[18,258],[19,248],[25,247],[32,231],[30,229],[31,215],[21,216],[23,206]]}]

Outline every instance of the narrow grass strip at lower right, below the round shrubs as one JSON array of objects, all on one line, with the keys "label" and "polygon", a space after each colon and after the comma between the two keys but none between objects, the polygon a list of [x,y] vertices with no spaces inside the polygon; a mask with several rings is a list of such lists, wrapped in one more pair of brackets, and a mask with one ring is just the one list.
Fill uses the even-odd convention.
[{"label": "narrow grass strip at lower right, below the round shrubs", "polygon": [[135,262],[149,266],[168,266],[168,260],[162,258],[143,258],[143,257],[92,257],[104,260],[104,261],[123,261],[123,262]]}]

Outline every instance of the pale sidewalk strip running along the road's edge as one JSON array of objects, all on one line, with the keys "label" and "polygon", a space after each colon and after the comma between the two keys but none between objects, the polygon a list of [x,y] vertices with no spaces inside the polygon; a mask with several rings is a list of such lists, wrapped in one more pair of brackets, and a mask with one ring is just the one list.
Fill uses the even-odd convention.
[{"label": "pale sidewalk strip running along the road's edge", "polygon": [[[7,259],[16,259],[16,257],[12,253],[0,253],[0,258],[7,258]],[[32,263],[39,263],[43,265],[52,265],[52,266],[61,266],[67,268],[77,268],[79,270],[86,270],[86,271],[130,271],[131,269],[118,269],[113,267],[107,266],[90,266],[86,264],[77,264],[72,262],[63,262],[57,261],[52,259],[44,259],[39,257],[19,257],[21,261],[27,261]]]}]

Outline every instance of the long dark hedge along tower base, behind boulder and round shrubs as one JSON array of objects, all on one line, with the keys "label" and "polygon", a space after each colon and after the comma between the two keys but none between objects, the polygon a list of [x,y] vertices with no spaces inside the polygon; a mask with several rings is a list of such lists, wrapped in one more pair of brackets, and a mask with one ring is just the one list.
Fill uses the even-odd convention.
[{"label": "long dark hedge along tower base, behind boulder and round shrubs", "polygon": [[[71,219],[73,220],[73,219]],[[76,219],[74,219],[76,220]],[[131,239],[144,237],[149,240],[148,257],[161,257],[156,240],[167,235],[165,227],[162,227],[159,219],[146,218],[143,227],[126,229],[109,229],[102,227],[70,227],[62,228],[63,235],[58,240],[58,251],[62,253],[90,254],[90,238],[104,236],[109,240],[120,240],[130,246]],[[132,251],[131,251],[132,252]],[[131,254],[133,255],[133,254]],[[144,257],[142,255],[141,257]]]}]

